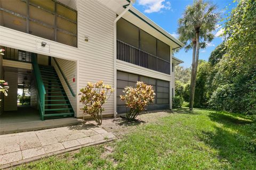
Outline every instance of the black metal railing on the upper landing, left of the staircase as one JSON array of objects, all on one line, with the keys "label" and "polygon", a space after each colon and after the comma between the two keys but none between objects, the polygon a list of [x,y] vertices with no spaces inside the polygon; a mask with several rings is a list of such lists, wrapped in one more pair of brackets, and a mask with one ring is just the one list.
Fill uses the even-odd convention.
[{"label": "black metal railing on the upper landing, left of the staircase", "polygon": [[5,47],[4,59],[31,63],[31,53],[23,50]]}]

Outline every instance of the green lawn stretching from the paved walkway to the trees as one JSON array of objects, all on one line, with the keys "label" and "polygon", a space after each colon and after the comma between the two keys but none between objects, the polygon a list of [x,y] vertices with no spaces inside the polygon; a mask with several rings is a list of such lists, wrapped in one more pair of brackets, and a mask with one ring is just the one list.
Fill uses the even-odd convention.
[{"label": "green lawn stretching from the paved walkway to the trees", "polygon": [[182,108],[121,140],[14,169],[256,169],[255,127],[243,115]]}]

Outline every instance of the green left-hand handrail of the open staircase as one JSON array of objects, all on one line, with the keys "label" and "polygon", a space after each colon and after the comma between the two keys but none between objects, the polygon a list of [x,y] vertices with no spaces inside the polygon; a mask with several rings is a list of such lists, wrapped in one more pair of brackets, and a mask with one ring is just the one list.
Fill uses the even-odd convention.
[{"label": "green left-hand handrail of the open staircase", "polygon": [[35,53],[32,54],[32,65],[33,65],[33,70],[35,73],[35,78],[36,78],[36,85],[37,85],[37,93],[38,93],[38,104],[39,104],[39,111],[41,115],[41,120],[44,120],[44,107],[45,107],[45,88],[44,88],[44,83],[42,80],[42,75],[39,69],[39,65],[37,63],[37,57]]}]

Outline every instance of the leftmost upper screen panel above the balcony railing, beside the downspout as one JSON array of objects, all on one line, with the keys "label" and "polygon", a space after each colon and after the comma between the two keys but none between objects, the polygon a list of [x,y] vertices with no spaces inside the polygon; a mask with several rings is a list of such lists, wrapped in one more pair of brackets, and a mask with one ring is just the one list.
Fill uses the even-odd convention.
[{"label": "leftmost upper screen panel above the balcony railing, beside the downspout", "polygon": [[130,22],[119,19],[117,21],[117,39],[139,48],[139,28]]}]

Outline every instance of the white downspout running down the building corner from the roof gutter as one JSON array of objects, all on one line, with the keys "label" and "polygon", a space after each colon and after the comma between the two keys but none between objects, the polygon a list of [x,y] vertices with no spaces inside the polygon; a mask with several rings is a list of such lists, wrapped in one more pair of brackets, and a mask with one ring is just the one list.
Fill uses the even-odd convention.
[{"label": "white downspout running down the building corner from the roof gutter", "polygon": [[[126,6],[125,10],[117,16],[117,18],[115,19],[114,21],[114,88],[115,88],[115,91],[114,91],[114,118],[116,118],[116,115],[117,115],[117,112],[116,112],[116,84],[117,84],[117,80],[116,80],[116,77],[117,77],[117,70],[116,70],[116,22],[122,18],[122,16],[132,7],[132,4],[134,3],[134,0],[131,0],[130,1],[130,4],[128,6]],[[124,7],[125,7],[124,6]]]}]

